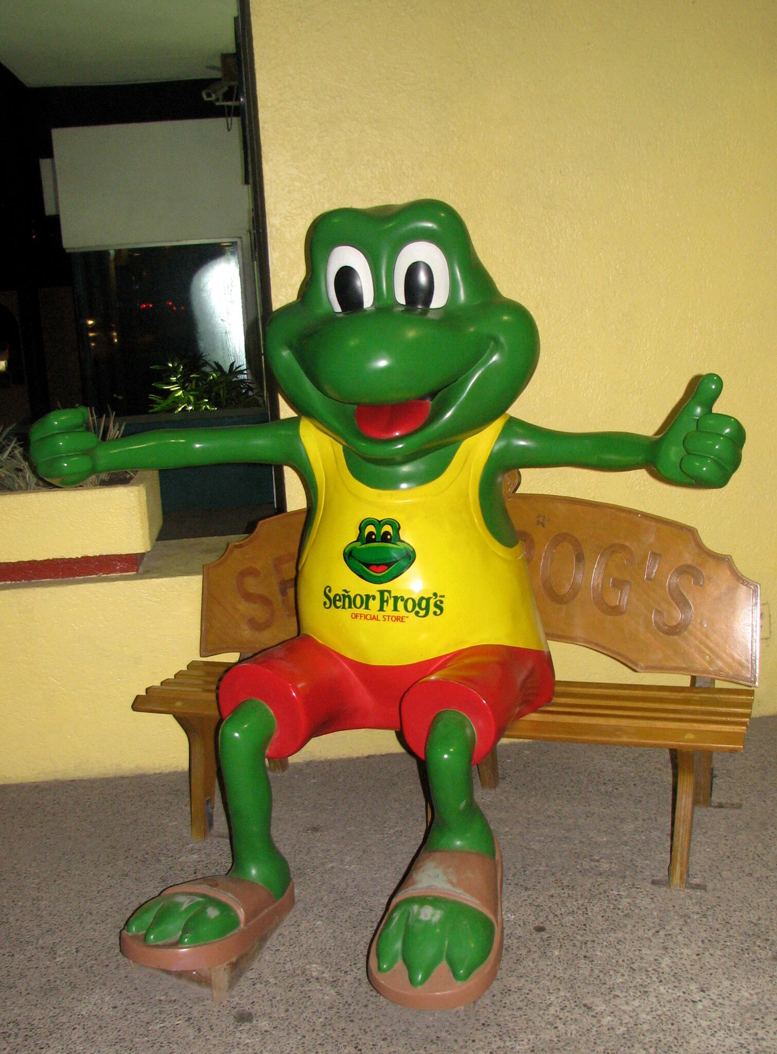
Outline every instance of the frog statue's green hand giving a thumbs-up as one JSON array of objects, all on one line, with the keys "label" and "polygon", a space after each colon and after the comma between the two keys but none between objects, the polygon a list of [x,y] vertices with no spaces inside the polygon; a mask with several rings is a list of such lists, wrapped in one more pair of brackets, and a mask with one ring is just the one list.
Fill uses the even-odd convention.
[{"label": "frog statue's green hand giving a thumbs-up", "polygon": [[744,429],[713,406],[723,390],[716,373],[705,374],[666,431],[659,436],[653,464],[671,483],[724,487],[739,467]]}]

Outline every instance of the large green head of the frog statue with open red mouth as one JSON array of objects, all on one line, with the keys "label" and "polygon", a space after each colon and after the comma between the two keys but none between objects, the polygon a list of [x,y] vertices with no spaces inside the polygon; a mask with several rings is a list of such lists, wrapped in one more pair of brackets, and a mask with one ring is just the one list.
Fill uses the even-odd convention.
[{"label": "large green head of the frog statue with open red mouth", "polygon": [[504,413],[539,338],[461,217],[413,201],[315,221],[299,299],[273,315],[267,354],[295,410],[362,457],[400,464]]}]

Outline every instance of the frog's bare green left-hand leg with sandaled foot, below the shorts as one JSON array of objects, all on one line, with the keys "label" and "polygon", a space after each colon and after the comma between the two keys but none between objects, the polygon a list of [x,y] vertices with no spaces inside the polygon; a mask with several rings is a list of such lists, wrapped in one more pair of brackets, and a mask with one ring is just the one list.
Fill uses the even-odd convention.
[{"label": "frog's bare green left-hand leg with sandaled foot, below the shorts", "polygon": [[265,758],[275,726],[272,710],[256,699],[240,703],[221,725],[232,868],[171,886],[142,904],[121,934],[121,949],[133,961],[171,971],[230,962],[266,939],[291,910],[289,865],[270,834]]}]

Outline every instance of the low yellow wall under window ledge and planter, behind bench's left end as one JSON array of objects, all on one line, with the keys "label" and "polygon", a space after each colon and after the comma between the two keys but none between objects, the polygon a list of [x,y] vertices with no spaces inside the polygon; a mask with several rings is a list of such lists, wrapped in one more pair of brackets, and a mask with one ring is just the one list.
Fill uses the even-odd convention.
[{"label": "low yellow wall under window ledge and planter, behind bench's left end", "polygon": [[[158,543],[137,575],[0,585],[0,783],[188,767],[175,720],[131,706],[197,658],[202,564],[227,541]],[[396,749],[341,733],[294,760]]]}]

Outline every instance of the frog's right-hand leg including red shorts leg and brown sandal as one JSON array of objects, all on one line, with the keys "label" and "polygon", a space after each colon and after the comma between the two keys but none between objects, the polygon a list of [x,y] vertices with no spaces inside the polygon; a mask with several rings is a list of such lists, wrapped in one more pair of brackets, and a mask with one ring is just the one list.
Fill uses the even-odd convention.
[{"label": "frog's right-hand leg including red shorts leg and brown sandal", "polygon": [[389,999],[458,1007],[493,980],[502,954],[502,861],[474,801],[472,765],[513,716],[547,702],[552,684],[546,652],[473,647],[405,695],[402,727],[425,754],[434,818],[370,950],[370,980]]}]

